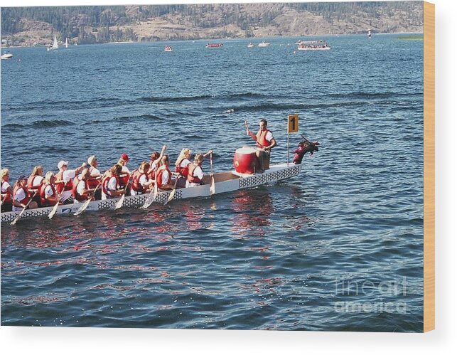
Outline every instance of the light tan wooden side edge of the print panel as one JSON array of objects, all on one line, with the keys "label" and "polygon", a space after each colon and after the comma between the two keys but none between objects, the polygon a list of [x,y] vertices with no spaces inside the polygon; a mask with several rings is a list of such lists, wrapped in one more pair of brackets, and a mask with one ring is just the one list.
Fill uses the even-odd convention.
[{"label": "light tan wooden side edge of the print panel", "polygon": [[435,5],[424,1],[424,332],[435,329]]}]

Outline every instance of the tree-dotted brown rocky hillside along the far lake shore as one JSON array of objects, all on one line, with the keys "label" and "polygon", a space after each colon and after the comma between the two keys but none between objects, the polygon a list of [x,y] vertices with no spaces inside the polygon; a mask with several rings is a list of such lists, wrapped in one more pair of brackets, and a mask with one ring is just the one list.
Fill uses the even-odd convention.
[{"label": "tree-dotted brown rocky hillside along the far lake shore", "polygon": [[423,31],[419,1],[1,9],[2,46]]}]

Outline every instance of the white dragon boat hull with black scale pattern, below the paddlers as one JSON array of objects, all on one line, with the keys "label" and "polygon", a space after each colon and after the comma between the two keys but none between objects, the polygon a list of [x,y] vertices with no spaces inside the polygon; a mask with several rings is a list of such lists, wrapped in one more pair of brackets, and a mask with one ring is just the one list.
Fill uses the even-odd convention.
[{"label": "white dragon boat hull with black scale pattern, below the paddlers", "polygon": [[[271,165],[270,169],[264,171],[262,174],[240,174],[237,171],[225,171],[214,174],[215,179],[215,194],[223,194],[226,192],[237,191],[241,189],[249,189],[255,186],[274,183],[276,181],[289,179],[300,174],[301,164],[275,164]],[[176,189],[173,200],[181,200],[184,198],[198,198],[211,196],[211,176],[205,175],[203,181],[205,185],[188,187],[183,189]],[[158,192],[154,203],[166,203],[171,191]],[[126,196],[122,208],[131,207],[139,208],[144,205],[146,199],[151,195],[136,195]],[[119,198],[111,198],[109,200],[92,201],[87,206],[85,211],[100,211],[100,210],[114,210]],[[70,214],[75,213],[82,205],[82,203],[73,203],[68,205],[61,205],[57,208],[56,214]],[[32,218],[39,216],[48,216],[53,207],[35,208],[24,211],[21,218]],[[4,212],[1,213],[1,223],[11,223],[21,213],[20,211]]]}]

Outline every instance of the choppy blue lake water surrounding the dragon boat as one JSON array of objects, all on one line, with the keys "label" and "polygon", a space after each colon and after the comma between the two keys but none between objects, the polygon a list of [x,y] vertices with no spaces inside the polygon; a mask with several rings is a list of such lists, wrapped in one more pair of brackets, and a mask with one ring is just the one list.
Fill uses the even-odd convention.
[{"label": "choppy blue lake water surrounding the dragon boat", "polygon": [[1,226],[1,325],[421,331],[423,42],[327,39],[296,54],[296,38],[12,50],[13,178],[92,154],[136,166],[162,144],[172,161],[214,149],[222,171],[260,117],[285,161],[291,113],[322,148],[274,186]]}]

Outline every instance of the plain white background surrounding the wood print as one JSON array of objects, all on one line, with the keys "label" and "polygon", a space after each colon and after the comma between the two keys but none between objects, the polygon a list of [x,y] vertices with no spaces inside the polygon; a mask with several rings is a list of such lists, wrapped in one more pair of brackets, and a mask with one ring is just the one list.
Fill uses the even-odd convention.
[{"label": "plain white background surrounding the wood print", "polygon": [[[195,4],[274,1],[40,1],[46,5]],[[0,327],[3,354],[450,354],[456,349],[457,6],[436,4],[436,330],[427,334]],[[1,6],[37,6],[4,0]]]}]

